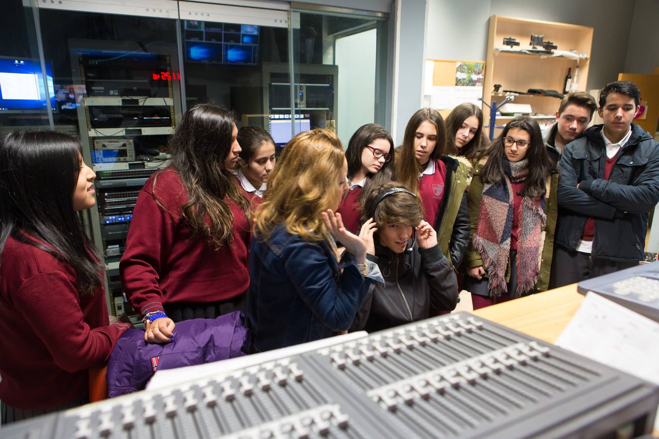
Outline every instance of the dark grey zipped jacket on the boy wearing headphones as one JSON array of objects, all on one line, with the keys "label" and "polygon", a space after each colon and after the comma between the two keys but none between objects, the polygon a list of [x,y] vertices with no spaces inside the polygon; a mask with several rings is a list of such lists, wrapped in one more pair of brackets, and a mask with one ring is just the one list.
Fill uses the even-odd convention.
[{"label": "dark grey zipped jacket on the boy wearing headphones", "polygon": [[372,282],[352,330],[374,332],[426,319],[430,305],[440,311],[455,309],[457,280],[439,245],[422,249],[415,243],[410,253],[393,253],[376,244],[375,253],[367,257],[380,267],[384,286]]}]

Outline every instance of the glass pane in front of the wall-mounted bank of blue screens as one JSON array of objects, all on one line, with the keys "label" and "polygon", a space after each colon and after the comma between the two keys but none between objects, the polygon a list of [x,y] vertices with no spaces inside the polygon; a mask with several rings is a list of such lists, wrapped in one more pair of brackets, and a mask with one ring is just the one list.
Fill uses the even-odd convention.
[{"label": "glass pane in front of the wall-mounted bank of blue screens", "polygon": [[291,138],[290,110],[285,119],[273,108],[290,100],[287,12],[206,8],[210,19],[181,20],[187,105],[210,100],[231,107],[239,128],[260,126],[283,146]]}]

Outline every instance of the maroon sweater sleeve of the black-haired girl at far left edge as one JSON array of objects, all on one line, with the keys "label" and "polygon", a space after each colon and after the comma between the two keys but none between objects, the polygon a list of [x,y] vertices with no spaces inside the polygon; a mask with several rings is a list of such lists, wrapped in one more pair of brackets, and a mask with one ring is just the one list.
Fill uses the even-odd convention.
[{"label": "maroon sweater sleeve of the black-haired girl at far left edge", "polygon": [[[98,291],[96,294],[103,293]],[[14,305],[34,328],[55,364],[69,373],[107,361],[117,338],[130,328],[128,323],[113,323],[91,329],[85,323],[80,302],[94,298],[80,296],[69,276],[63,272],[32,276],[23,282],[13,298]],[[107,324],[105,309],[101,313]]]}]

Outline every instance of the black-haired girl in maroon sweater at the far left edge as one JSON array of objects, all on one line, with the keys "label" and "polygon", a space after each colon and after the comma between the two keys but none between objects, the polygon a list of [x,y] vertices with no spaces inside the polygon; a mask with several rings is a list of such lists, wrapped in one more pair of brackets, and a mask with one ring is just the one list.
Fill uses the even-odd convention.
[{"label": "black-haired girl in maroon sweater at the far left edge", "polygon": [[57,132],[0,139],[2,425],[88,402],[88,369],[131,326],[109,323],[98,251],[78,215],[96,203],[81,151]]}]

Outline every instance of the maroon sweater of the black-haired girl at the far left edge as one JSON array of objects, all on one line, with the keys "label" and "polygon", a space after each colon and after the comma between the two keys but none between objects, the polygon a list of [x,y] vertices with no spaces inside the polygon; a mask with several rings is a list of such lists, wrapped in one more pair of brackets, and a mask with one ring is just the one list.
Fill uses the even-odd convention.
[{"label": "maroon sweater of the black-haired girl at the far left edge", "polygon": [[34,245],[7,239],[0,256],[0,400],[45,409],[88,396],[88,371],[107,361],[127,323],[108,324],[105,288],[78,293],[76,272]]}]

